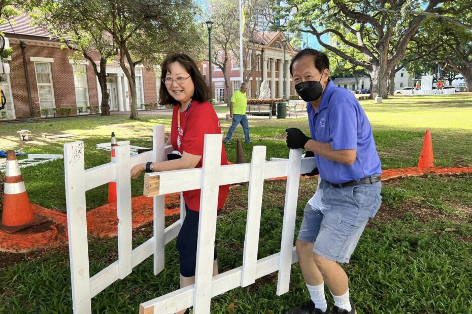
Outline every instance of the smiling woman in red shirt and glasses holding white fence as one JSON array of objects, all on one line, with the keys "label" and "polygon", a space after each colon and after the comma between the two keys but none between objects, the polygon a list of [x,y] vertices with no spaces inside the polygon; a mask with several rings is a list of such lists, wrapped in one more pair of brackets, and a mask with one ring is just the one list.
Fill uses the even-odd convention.
[{"label": "smiling woman in red shirt and glasses holding white fence", "polygon": [[[158,172],[178,169],[201,168],[205,134],[221,134],[221,127],[215,109],[208,102],[210,90],[195,62],[185,54],[169,54],[162,63],[162,83],[159,90],[160,104],[173,104],[171,137],[166,145],[172,144],[182,158],[160,163],[134,166],[131,178],[137,179],[143,171]],[[227,165],[226,151],[221,143],[221,165]],[[218,211],[223,207],[229,185],[219,188]],[[184,191],[186,217],[177,236],[180,257],[181,288],[194,284],[200,190]],[[213,210],[204,208],[203,210]],[[218,274],[216,248],[213,276]],[[181,311],[180,313],[183,313]],[[188,309],[187,311],[188,312]]]}]

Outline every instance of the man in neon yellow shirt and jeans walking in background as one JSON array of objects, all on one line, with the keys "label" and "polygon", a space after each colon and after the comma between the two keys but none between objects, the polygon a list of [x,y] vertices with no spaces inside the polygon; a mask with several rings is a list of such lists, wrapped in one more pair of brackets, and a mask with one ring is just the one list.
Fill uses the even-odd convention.
[{"label": "man in neon yellow shirt and jeans walking in background", "polygon": [[250,143],[251,139],[249,138],[249,122],[248,117],[246,116],[246,107],[248,105],[248,97],[246,96],[246,91],[248,90],[247,83],[241,83],[240,89],[235,91],[231,97],[231,106],[229,107],[229,116],[232,118],[233,123],[229,127],[228,134],[224,138],[223,142],[229,143],[231,136],[236,129],[236,127],[241,123],[244,131],[244,137],[246,143]]}]

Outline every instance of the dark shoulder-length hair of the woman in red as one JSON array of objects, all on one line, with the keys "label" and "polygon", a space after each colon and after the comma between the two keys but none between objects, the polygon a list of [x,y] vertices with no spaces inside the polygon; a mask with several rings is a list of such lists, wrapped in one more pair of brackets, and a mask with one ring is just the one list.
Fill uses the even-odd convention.
[{"label": "dark shoulder-length hair of the woman in red", "polygon": [[[192,79],[193,85],[195,86],[195,91],[193,92],[192,99],[197,101],[203,102],[208,101],[210,99],[210,89],[208,88],[207,82],[203,75],[201,74],[200,70],[198,69],[195,61],[192,60],[189,56],[183,53],[170,53],[165,57],[164,62],[162,62],[161,66],[161,74],[160,77],[165,78],[165,74],[169,71],[169,66],[171,63],[179,62],[180,65],[190,74]],[[164,83],[161,83],[159,88],[159,104],[160,105],[168,105],[173,104],[177,105],[180,102],[174,99],[169,92],[167,92],[167,88],[165,87]]]}]

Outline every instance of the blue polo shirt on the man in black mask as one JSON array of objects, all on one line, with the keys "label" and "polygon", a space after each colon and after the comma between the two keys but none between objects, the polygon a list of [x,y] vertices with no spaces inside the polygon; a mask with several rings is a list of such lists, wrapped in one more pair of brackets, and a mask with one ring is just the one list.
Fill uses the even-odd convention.
[{"label": "blue polo shirt on the man in black mask", "polygon": [[332,183],[360,180],[382,173],[370,122],[364,109],[347,89],[329,81],[315,111],[307,104],[308,121],[314,140],[330,143],[333,150],[357,149],[356,160],[345,165],[316,154],[320,176]]}]

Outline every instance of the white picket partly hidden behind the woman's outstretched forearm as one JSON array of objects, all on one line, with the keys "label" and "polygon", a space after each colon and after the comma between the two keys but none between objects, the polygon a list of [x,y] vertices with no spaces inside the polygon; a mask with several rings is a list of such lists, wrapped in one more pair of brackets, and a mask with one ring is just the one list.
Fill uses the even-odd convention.
[{"label": "white picket partly hidden behind the woman's outstretched forearm", "polygon": [[[165,161],[164,154],[164,126],[159,125],[152,128],[152,149],[153,162]],[[154,200],[154,274],[158,274],[164,270],[164,249],[165,249],[165,217],[164,217],[164,203],[165,195],[155,196]]]}]

